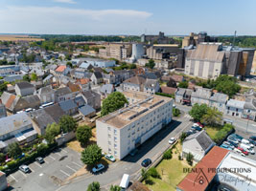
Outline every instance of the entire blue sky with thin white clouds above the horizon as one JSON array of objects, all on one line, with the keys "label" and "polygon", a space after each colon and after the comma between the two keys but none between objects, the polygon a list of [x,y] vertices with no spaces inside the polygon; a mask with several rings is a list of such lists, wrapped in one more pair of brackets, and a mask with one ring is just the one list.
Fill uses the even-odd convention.
[{"label": "entire blue sky with thin white clouds above the horizon", "polygon": [[0,0],[0,32],[256,35],[256,0]]}]

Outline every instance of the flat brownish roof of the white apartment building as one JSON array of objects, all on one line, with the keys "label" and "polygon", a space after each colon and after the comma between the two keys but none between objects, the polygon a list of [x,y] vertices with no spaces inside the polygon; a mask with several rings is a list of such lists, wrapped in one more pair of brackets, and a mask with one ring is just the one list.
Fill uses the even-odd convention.
[{"label": "flat brownish roof of the white apartment building", "polygon": [[123,92],[123,94],[129,99],[136,100],[136,102],[105,117],[101,117],[98,120],[116,128],[123,128],[172,100],[170,97],[148,95],[141,92]]}]

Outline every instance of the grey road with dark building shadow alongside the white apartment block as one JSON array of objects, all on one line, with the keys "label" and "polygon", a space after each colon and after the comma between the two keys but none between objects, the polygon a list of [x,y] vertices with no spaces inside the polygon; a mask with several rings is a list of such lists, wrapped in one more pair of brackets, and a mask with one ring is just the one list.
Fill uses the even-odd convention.
[{"label": "grey road with dark building shadow alongside the white apartment block", "polygon": [[117,161],[109,165],[108,169],[102,174],[96,176],[86,174],[71,180],[68,182],[68,184],[59,187],[57,190],[84,190],[92,181],[99,181],[101,188],[108,190],[111,184],[118,185],[120,183],[124,173],[130,175],[130,180],[132,181],[140,173],[140,163],[143,159],[150,158],[152,161],[157,159],[163,153],[163,151],[170,146],[168,140],[172,137],[178,138],[181,132],[187,131],[191,125],[192,122],[188,116],[183,116],[173,120],[173,122],[170,123],[166,128],[162,129],[147,142],[143,143],[135,157],[128,156],[121,161]]}]

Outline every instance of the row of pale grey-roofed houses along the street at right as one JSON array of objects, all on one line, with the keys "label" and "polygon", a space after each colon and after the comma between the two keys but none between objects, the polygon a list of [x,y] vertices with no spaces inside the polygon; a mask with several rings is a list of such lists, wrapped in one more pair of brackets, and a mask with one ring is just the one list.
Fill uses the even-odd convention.
[{"label": "row of pale grey-roofed houses along the street at right", "polygon": [[227,95],[215,93],[211,89],[198,88],[194,90],[178,88],[175,92],[175,102],[195,105],[206,104],[217,108],[225,115],[256,119],[256,97],[249,96],[245,100],[228,99]]}]

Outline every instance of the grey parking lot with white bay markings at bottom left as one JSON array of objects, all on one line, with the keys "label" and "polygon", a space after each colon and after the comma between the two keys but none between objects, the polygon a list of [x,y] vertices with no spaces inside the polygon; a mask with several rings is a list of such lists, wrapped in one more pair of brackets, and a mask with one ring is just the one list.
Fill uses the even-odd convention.
[{"label": "grey parking lot with white bay markings at bottom left", "polygon": [[[8,176],[8,182],[15,190],[55,190],[83,166],[80,153],[67,147],[59,148],[44,158],[44,163],[29,164],[30,173],[20,170]],[[42,189],[43,188],[43,189]]]}]

